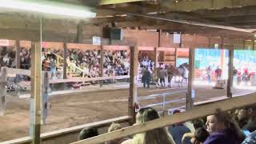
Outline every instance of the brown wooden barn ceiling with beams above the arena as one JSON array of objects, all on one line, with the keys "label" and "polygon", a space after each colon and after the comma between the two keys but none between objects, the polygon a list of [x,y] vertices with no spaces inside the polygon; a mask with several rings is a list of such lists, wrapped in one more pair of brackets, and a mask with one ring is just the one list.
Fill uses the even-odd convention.
[{"label": "brown wooden barn ceiling with beams above the arena", "polygon": [[[70,26],[78,23],[96,26],[117,26],[139,30],[181,32],[226,38],[254,38],[256,32],[255,0],[52,0],[93,7],[96,18],[47,18],[45,22]],[[18,27],[18,18],[25,19]],[[0,10],[0,29],[35,29],[35,14]],[[15,21],[16,19],[16,21]],[[13,21],[13,22],[12,22]],[[9,24],[6,26],[6,24]],[[15,27],[16,26],[16,27]],[[53,26],[54,27],[54,26]],[[51,28],[49,28],[51,30]]]}]

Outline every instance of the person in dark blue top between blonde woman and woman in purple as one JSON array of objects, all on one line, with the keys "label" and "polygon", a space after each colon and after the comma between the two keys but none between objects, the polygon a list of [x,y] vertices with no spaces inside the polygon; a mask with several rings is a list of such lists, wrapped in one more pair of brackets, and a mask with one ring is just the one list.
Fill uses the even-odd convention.
[{"label": "person in dark blue top between blonde woman and woman in purple", "polygon": [[[180,110],[174,110],[173,114],[181,113]],[[176,144],[182,144],[183,134],[190,133],[190,129],[183,125],[183,123],[177,123],[169,128],[170,134],[173,136]],[[184,143],[191,143],[190,138],[185,138]]]}]

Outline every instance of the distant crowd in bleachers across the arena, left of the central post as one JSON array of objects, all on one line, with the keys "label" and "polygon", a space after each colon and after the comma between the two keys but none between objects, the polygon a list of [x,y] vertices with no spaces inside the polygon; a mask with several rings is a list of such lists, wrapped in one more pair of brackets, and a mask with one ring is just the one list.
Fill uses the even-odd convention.
[{"label": "distant crowd in bleachers across the arena, left of the central post", "polygon": [[[16,67],[15,54],[14,49],[0,47],[0,65]],[[76,72],[77,70],[74,69],[77,67],[86,77],[94,78],[100,75],[100,50],[69,49],[67,56],[71,72]],[[53,69],[62,67],[61,58],[63,58],[62,49],[42,48],[42,70],[54,71]],[[30,59],[30,49],[21,48],[20,67],[22,69],[30,69]],[[103,76],[127,75],[130,67],[130,54],[126,50],[106,50],[103,62]]]}]

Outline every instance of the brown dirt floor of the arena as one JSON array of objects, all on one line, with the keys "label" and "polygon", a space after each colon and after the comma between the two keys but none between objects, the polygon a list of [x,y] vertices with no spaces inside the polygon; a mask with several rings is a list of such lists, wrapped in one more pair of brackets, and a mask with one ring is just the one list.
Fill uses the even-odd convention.
[{"label": "brown dirt floor of the arena", "polygon": [[[160,94],[186,90],[184,88],[159,90],[155,88],[138,89],[138,96]],[[234,90],[234,94],[247,94],[254,90]],[[78,126],[89,122],[97,122],[108,118],[127,115],[127,99],[129,89],[122,90],[94,90],[82,94],[58,94],[50,97],[51,109],[46,125],[42,126],[42,133],[60,130],[71,126]],[[195,86],[195,102],[226,95],[226,90],[216,90],[207,86]],[[186,98],[186,94],[173,94],[166,100]],[[7,113],[0,116],[0,142],[22,138],[29,135],[29,102],[30,98],[7,98]],[[162,98],[140,102],[141,106],[162,102]],[[185,100],[170,103],[167,108],[184,106]],[[159,108],[161,110],[161,108]]]}]

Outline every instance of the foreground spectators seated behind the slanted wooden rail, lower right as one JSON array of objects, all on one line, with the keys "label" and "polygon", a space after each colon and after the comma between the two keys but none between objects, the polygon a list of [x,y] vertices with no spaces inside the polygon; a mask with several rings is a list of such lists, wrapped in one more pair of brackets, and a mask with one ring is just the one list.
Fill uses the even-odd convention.
[{"label": "foreground spectators seated behind the slanted wooden rail, lower right", "polygon": [[[118,138],[106,144],[248,144],[256,143],[256,110],[255,106],[223,112],[216,110],[206,118],[189,122],[179,122],[172,126],[134,134],[127,138]],[[172,114],[181,113],[174,110]],[[138,110],[134,125],[160,118],[152,108]],[[107,132],[120,130],[122,126],[112,123]],[[86,132],[85,132],[86,131]],[[90,133],[91,131],[91,133]],[[79,134],[78,140],[97,136],[98,130],[86,128]]]}]

